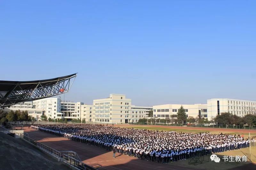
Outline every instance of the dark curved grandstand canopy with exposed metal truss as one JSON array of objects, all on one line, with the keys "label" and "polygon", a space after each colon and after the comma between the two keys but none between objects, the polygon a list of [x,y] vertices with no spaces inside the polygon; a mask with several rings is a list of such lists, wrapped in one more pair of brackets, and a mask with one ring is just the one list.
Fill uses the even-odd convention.
[{"label": "dark curved grandstand canopy with exposed metal truss", "polygon": [[66,93],[71,88],[75,78],[76,73],[47,80],[0,80],[0,108]]}]

